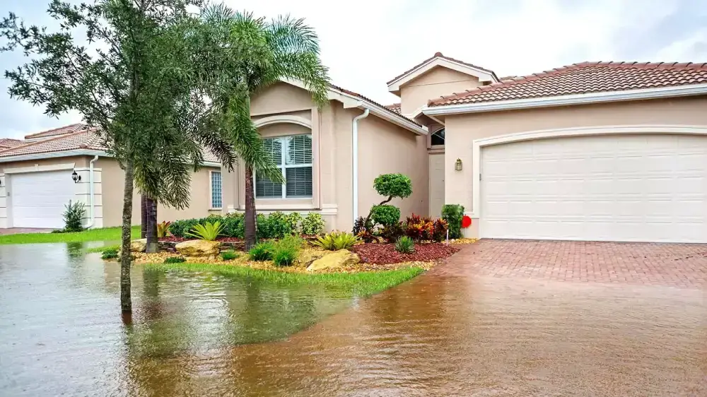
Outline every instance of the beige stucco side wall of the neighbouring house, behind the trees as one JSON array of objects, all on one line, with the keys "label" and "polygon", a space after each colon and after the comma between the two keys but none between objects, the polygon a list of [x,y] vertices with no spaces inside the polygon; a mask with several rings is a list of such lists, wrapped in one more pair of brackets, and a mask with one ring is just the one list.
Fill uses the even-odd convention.
[{"label": "beige stucco side wall of the neighbouring house, behind the trees", "polygon": [[[124,172],[118,162],[112,158],[100,158],[95,162],[100,167],[103,177],[103,225],[105,227],[119,226],[122,223]],[[204,167],[192,174],[192,198],[189,208],[176,210],[159,205],[157,220],[179,220],[187,218],[203,218],[209,213],[221,213],[221,210],[209,210],[211,204],[209,170],[220,171],[214,167]],[[140,195],[135,189],[133,194],[132,224],[140,224]]]}]

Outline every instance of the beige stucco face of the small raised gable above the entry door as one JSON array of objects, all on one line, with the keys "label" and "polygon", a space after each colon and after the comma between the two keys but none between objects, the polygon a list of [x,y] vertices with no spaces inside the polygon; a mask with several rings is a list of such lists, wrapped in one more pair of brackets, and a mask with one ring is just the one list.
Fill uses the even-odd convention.
[{"label": "beige stucco face of the small raised gable above the entry door", "polygon": [[438,66],[400,88],[402,114],[412,114],[428,100],[481,85],[479,78]]}]

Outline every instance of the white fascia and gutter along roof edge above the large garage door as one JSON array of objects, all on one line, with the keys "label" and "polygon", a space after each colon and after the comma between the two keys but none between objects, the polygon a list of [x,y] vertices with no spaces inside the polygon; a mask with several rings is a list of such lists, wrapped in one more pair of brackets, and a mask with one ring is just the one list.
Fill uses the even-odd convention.
[{"label": "white fascia and gutter along roof edge above the large garage door", "polygon": [[648,100],[667,97],[707,95],[707,84],[678,85],[677,87],[644,88],[641,90],[607,91],[554,97],[525,98],[518,100],[500,100],[496,102],[464,103],[425,107],[423,113],[428,116],[449,114],[496,112],[501,110],[528,109],[533,107],[586,105],[590,103],[619,102],[626,100]]}]

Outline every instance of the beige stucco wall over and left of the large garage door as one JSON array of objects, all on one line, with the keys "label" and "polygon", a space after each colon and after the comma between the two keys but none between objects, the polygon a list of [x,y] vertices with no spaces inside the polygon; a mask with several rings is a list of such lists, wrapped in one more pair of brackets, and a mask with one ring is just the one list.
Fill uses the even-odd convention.
[{"label": "beige stucco wall over and left of the large garage door", "polygon": [[[472,208],[472,146],[474,139],[545,129],[583,126],[698,125],[707,126],[707,98],[614,102],[602,105],[551,107],[508,112],[460,114],[445,119],[445,202]],[[482,152],[483,153],[483,152]],[[454,170],[460,158],[462,171]],[[469,230],[477,235],[478,223]]]}]

